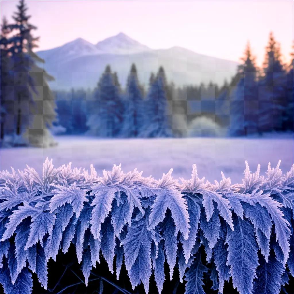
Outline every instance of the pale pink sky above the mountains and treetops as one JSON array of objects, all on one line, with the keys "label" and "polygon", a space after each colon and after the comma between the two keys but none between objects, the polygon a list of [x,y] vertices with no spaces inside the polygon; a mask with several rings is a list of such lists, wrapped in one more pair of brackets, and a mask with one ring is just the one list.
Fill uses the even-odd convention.
[{"label": "pale pink sky above the mountains and treetops", "polygon": [[[1,1],[10,19],[17,1]],[[286,61],[293,44],[293,1],[26,1],[39,49],[82,37],[96,44],[124,32],[151,48],[181,46],[239,61],[247,41],[260,65],[273,31]]]}]

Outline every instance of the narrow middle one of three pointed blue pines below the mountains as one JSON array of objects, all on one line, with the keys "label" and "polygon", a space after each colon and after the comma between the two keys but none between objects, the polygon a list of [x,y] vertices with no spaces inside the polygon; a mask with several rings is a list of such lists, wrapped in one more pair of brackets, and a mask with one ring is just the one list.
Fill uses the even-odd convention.
[{"label": "narrow middle one of three pointed blue pines below the mountains", "polygon": [[143,126],[143,93],[138,81],[137,68],[132,64],[126,86],[126,132],[128,137],[138,137]]}]

